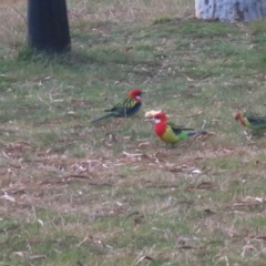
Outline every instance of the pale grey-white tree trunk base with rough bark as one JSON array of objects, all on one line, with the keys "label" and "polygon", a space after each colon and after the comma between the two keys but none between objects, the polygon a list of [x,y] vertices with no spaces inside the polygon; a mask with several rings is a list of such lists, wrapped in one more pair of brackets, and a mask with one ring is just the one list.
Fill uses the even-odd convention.
[{"label": "pale grey-white tree trunk base with rough bark", "polygon": [[195,0],[196,18],[252,21],[266,17],[266,0]]}]

